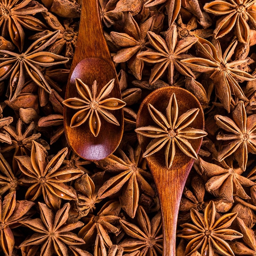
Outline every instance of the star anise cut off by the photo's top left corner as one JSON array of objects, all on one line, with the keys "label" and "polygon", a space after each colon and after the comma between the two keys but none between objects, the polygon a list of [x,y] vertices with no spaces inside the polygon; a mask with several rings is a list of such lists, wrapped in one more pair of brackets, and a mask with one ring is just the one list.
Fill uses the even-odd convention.
[{"label": "star anise cut off by the photo's top left corner", "polygon": [[1,1],[0,27],[2,27],[2,36],[6,37],[9,34],[12,42],[21,52],[25,41],[25,33],[22,26],[30,30],[43,31],[46,26],[31,15],[45,11],[47,9],[37,1]]}]

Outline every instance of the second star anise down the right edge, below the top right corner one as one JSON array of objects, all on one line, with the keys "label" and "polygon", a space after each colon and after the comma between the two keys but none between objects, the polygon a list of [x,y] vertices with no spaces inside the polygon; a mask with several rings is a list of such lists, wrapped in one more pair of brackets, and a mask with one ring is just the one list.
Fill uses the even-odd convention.
[{"label": "second star anise down the right edge, below the top right corner one", "polygon": [[224,108],[229,112],[231,94],[247,101],[237,81],[251,81],[255,79],[252,75],[235,68],[247,60],[230,61],[238,43],[236,39],[231,42],[225,53],[222,53],[218,40],[214,39],[211,43],[197,35],[195,36],[198,38],[196,47],[199,57],[183,59],[181,62],[197,72],[211,74],[210,78],[215,84],[216,95]]}]

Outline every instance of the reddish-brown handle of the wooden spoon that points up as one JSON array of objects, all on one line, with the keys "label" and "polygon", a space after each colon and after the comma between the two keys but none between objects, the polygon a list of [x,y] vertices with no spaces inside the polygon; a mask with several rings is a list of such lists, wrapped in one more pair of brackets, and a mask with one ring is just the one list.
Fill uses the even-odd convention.
[{"label": "reddish-brown handle of the wooden spoon that points up", "polygon": [[75,67],[85,58],[100,58],[112,62],[103,33],[98,0],[82,2],[79,37],[72,66]]}]

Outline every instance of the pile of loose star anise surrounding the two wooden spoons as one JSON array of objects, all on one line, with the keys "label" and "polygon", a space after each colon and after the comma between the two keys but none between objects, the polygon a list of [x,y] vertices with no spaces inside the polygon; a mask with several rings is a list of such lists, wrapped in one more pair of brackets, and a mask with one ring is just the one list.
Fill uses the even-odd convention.
[{"label": "pile of loose star anise surrounding the two wooden spoons", "polygon": [[256,255],[255,0],[99,2],[125,131],[113,155],[89,162],[63,128],[82,1],[0,1],[0,255],[162,255],[134,130],[141,101],[170,85],[197,97],[208,133],[184,188],[176,255]]}]

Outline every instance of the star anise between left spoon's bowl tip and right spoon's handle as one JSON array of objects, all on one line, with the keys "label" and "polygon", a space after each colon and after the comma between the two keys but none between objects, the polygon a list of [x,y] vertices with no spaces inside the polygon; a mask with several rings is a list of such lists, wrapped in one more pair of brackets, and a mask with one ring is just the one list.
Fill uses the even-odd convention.
[{"label": "star anise between left spoon's bowl tip and right spoon's handle", "polygon": [[[98,165],[105,171],[120,172],[116,176],[106,181],[99,189],[99,198],[106,198],[117,193],[122,189],[120,196],[121,207],[126,213],[134,218],[139,202],[139,191],[154,196],[155,191],[144,177],[151,177],[151,174],[141,167],[142,157],[141,148],[138,146],[134,151],[131,146],[128,146],[128,156],[118,149],[116,155],[111,155],[98,162]],[[118,157],[119,156],[119,157]]]}]

